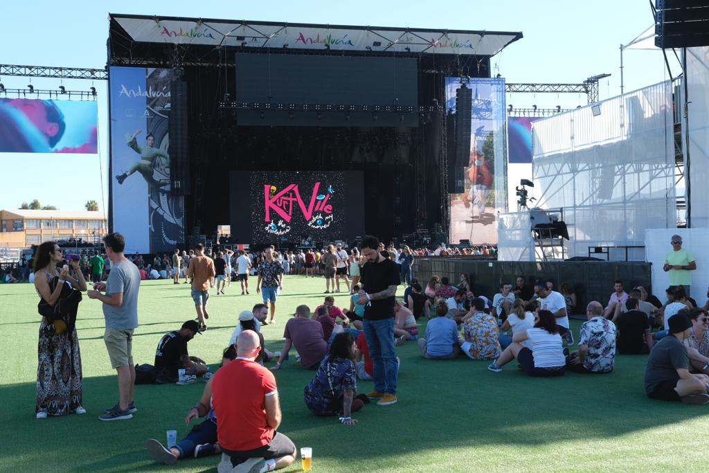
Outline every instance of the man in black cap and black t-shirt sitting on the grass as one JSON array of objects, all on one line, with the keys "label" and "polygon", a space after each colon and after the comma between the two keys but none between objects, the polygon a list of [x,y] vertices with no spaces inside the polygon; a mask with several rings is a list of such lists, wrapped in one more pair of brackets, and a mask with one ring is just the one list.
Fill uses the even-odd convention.
[{"label": "man in black cap and black t-shirt sitting on the grass", "polygon": [[205,374],[207,365],[198,357],[191,357],[187,353],[187,343],[199,331],[196,321],[186,321],[182,328],[162,335],[160,343],[155,350],[155,369],[157,382],[169,383],[177,381],[177,370],[184,368],[184,373],[189,375]]}]

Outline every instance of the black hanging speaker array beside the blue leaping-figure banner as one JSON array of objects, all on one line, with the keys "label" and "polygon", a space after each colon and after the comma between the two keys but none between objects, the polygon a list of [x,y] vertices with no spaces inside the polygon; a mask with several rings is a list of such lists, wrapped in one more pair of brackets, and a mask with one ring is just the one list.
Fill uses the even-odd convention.
[{"label": "black hanging speaker array beside the blue leaping-figure banner", "polygon": [[187,82],[170,83],[170,189],[174,195],[190,194],[189,137],[187,135]]}]

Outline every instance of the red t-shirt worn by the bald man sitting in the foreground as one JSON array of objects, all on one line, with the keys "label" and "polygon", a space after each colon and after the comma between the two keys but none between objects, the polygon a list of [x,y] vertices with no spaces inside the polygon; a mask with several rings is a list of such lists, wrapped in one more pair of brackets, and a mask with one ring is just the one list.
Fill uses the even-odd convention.
[{"label": "red t-shirt worn by the bald man sitting in the foreground", "polygon": [[277,392],[276,378],[251,360],[237,359],[214,374],[212,405],[219,445],[240,452],[268,445],[275,430],[267,425],[264,398]]}]

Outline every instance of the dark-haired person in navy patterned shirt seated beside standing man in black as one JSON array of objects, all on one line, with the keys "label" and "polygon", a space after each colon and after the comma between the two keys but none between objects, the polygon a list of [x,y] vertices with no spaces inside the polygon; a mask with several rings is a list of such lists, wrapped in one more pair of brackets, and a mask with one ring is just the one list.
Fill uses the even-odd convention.
[{"label": "dark-haired person in navy patterned shirt seated beside standing man in black", "polygon": [[357,345],[350,332],[338,333],[330,345],[330,355],[320,362],[313,380],[306,386],[306,406],[316,416],[342,416],[345,425],[357,423],[352,412],[362,408],[364,402],[357,395],[357,367],[354,352]]}]

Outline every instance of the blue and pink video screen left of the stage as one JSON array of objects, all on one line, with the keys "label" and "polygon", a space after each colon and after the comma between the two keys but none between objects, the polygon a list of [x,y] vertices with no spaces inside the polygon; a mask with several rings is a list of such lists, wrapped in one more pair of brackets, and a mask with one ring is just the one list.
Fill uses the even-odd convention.
[{"label": "blue and pink video screen left of the stage", "polygon": [[96,101],[0,99],[0,152],[97,151]]}]

